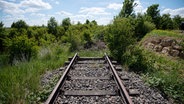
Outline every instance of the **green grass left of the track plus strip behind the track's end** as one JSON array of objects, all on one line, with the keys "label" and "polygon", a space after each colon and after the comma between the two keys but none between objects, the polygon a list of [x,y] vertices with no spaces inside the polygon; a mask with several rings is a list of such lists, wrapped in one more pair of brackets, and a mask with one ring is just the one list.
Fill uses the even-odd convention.
[{"label": "green grass left of the track plus strip behind the track's end", "polygon": [[[108,50],[76,51],[81,57],[102,57]],[[40,86],[40,78],[48,70],[63,66],[68,57],[69,45],[53,43],[40,49],[38,58],[30,62],[18,62],[16,65],[2,66],[0,69],[0,104],[40,103],[47,99],[58,77],[53,78],[48,86]]]}]

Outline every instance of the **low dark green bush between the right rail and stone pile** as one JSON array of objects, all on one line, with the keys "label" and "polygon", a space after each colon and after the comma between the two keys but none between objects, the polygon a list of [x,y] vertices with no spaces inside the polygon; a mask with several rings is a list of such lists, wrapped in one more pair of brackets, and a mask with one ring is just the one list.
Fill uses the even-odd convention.
[{"label": "low dark green bush between the right rail and stone pile", "polygon": [[129,46],[122,61],[129,66],[130,70],[136,72],[150,72],[154,69],[154,60],[152,60],[143,49],[137,46]]}]

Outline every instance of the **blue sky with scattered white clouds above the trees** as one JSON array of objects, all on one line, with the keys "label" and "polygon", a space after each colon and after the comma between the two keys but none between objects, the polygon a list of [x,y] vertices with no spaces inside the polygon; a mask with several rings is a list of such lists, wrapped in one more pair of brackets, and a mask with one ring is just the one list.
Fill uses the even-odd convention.
[{"label": "blue sky with scattered white clouds above the trees", "polygon": [[[100,25],[109,24],[118,15],[124,0],[0,0],[0,21],[6,27],[23,19],[28,25],[47,25],[50,17],[60,24],[70,17],[72,23],[86,19],[96,20]],[[144,13],[148,6],[159,4],[161,14],[184,17],[184,0],[135,0],[136,13]]]}]

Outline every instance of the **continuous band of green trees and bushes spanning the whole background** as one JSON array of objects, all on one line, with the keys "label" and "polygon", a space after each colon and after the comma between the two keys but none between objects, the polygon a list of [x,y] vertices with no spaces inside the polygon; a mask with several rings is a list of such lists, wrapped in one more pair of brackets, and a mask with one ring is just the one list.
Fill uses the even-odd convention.
[{"label": "continuous band of green trees and bushes spanning the whole background", "polygon": [[[95,20],[86,20],[84,24],[72,24],[65,18],[59,24],[54,17],[47,26],[29,26],[24,20],[13,22],[11,28],[5,28],[0,22],[0,53],[8,57],[7,62],[30,60],[36,57],[40,47],[54,42],[70,44],[70,51],[90,48],[97,40],[105,41],[112,56],[123,60],[122,55],[129,45],[141,40],[153,29],[179,29],[184,18],[179,15],[160,15],[159,4],[148,7],[146,13],[135,14],[134,0],[125,0],[120,13],[113,22],[100,26]],[[6,61],[5,61],[6,62]]]}]

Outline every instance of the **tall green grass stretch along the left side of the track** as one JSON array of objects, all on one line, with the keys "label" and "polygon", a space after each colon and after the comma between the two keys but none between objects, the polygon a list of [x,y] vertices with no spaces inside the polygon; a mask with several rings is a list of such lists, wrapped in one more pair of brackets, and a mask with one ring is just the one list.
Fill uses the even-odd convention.
[{"label": "tall green grass stretch along the left side of the track", "polygon": [[44,47],[37,59],[2,67],[0,69],[0,103],[28,103],[27,95],[39,89],[40,75],[47,70],[62,66],[71,55],[68,50],[68,45],[55,43]]}]

